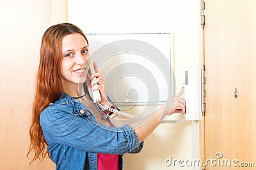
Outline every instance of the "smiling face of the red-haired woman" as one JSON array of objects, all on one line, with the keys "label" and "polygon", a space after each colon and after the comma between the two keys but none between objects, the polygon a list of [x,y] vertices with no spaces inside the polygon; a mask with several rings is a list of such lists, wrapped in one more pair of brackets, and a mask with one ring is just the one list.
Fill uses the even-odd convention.
[{"label": "smiling face of the red-haired woman", "polygon": [[62,40],[62,54],[62,85],[70,87],[84,83],[90,66],[90,52],[86,39],[79,33],[65,36]]}]

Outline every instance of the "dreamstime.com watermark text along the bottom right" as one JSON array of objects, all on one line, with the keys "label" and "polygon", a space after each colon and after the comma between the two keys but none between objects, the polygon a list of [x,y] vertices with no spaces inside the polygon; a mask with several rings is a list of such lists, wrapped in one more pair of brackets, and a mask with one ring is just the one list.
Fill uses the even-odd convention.
[{"label": "dreamstime.com watermark text along the bottom right", "polygon": [[253,162],[239,162],[237,159],[223,159],[221,152],[216,152],[216,158],[205,159],[203,162],[201,159],[173,159],[169,157],[164,161],[165,166],[168,167],[254,167]]}]

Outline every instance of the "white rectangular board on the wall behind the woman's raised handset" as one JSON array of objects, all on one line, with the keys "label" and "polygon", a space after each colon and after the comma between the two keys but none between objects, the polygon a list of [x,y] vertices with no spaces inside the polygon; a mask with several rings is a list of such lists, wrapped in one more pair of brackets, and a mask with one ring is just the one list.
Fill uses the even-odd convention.
[{"label": "white rectangular board on the wall behind the woman's raised handset", "polygon": [[86,34],[86,38],[114,103],[159,104],[174,94],[172,34]]}]

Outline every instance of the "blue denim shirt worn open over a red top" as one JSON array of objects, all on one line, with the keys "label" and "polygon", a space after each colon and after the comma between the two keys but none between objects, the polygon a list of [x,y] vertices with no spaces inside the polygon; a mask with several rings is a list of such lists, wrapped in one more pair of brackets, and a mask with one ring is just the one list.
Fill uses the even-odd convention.
[{"label": "blue denim shirt worn open over a red top", "polygon": [[42,111],[40,125],[51,160],[60,170],[97,170],[97,153],[118,154],[122,169],[122,155],[143,147],[129,125],[99,124],[87,106],[65,93]]}]

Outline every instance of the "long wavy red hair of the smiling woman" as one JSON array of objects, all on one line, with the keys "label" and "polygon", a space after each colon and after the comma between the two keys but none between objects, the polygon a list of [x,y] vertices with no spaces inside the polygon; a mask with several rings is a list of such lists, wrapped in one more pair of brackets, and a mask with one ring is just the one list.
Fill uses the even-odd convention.
[{"label": "long wavy red hair of the smiling woman", "polygon": [[[79,33],[86,39],[81,29],[69,23],[52,25],[44,32],[42,37],[40,63],[36,76],[35,99],[32,108],[32,121],[29,129],[31,143],[27,157],[31,152],[35,153],[30,164],[36,159],[42,161],[45,159],[45,156],[49,157],[49,152],[46,149],[47,143],[39,122],[40,114],[50,103],[60,98],[62,92],[62,39],[68,34],[74,33]],[[86,41],[88,43],[87,39]]]}]

